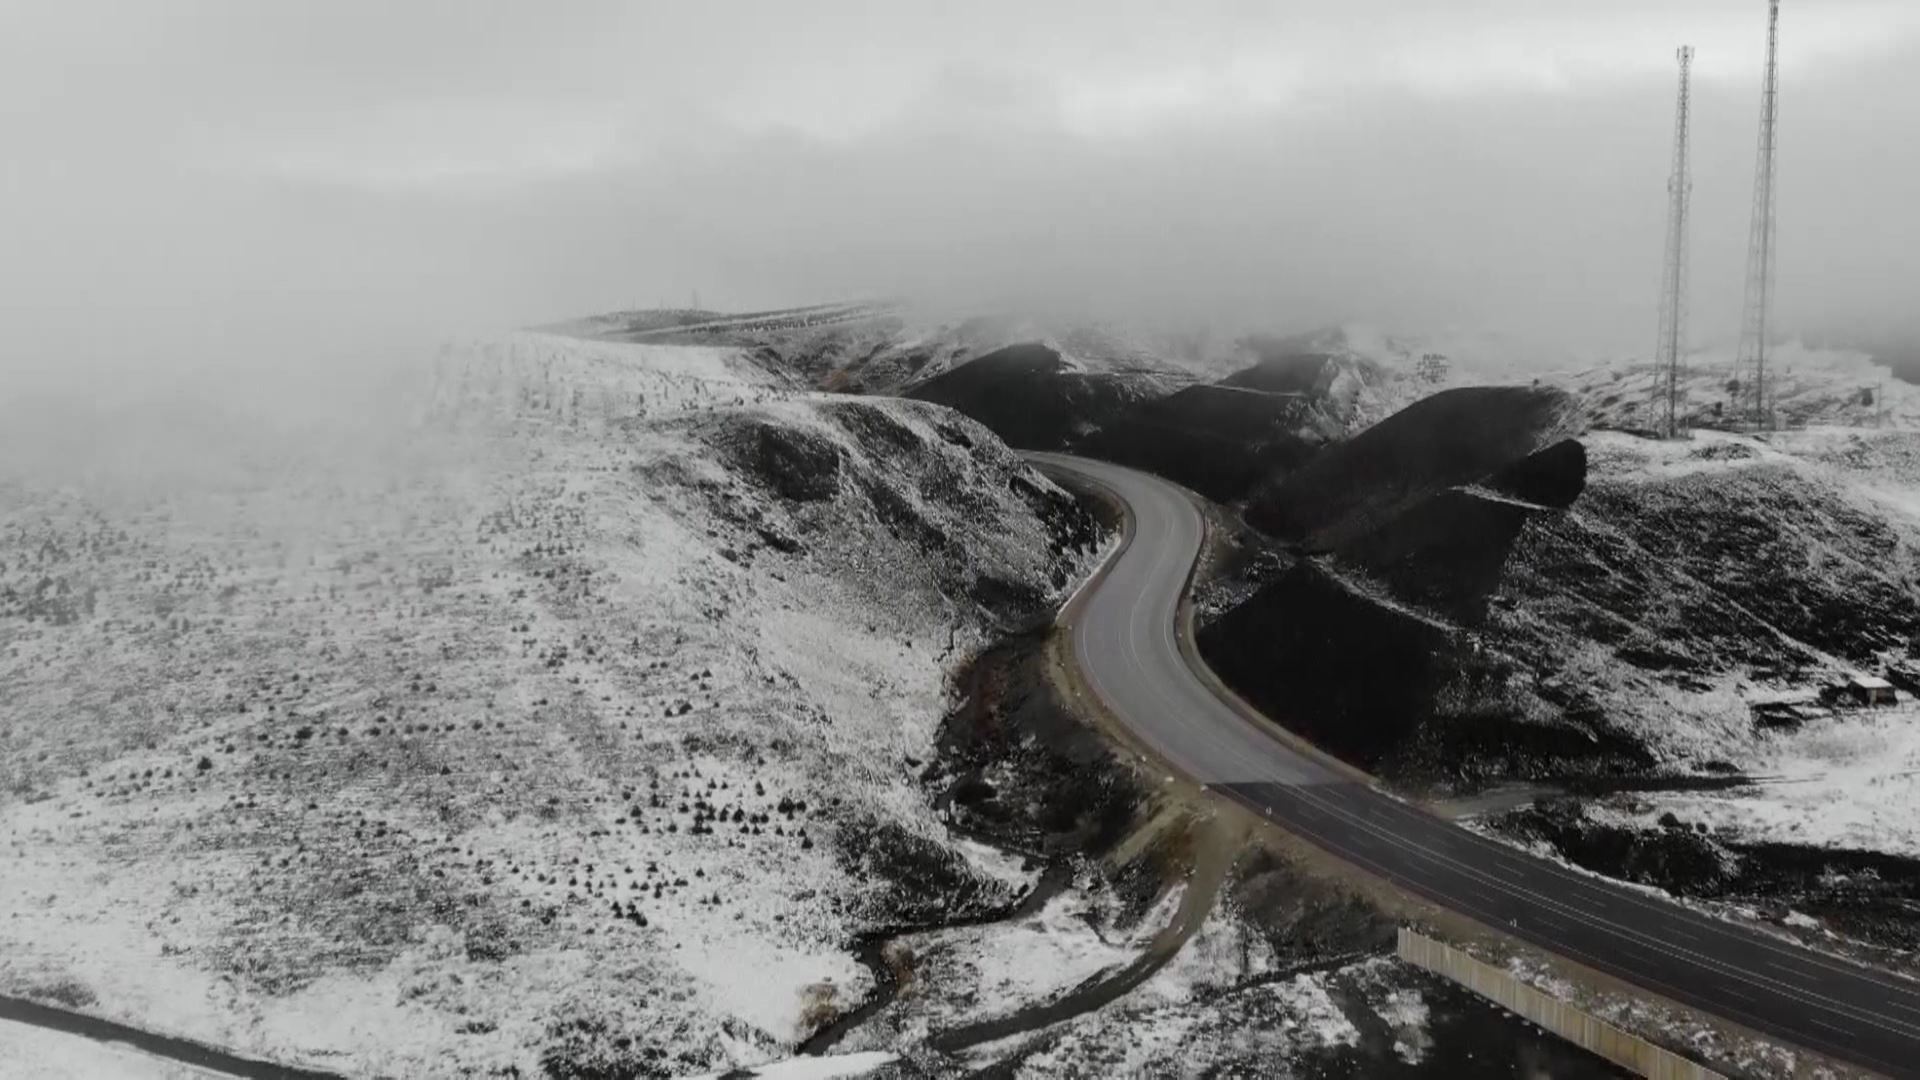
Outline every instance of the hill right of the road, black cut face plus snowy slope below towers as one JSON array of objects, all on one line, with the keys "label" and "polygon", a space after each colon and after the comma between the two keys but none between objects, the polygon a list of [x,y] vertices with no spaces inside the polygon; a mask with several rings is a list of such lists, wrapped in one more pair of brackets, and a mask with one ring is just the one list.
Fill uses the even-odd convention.
[{"label": "hill right of the road, black cut face plus snowy slope below towers", "polygon": [[[1889,475],[1905,465],[1885,461],[1910,442],[1592,432],[1571,509],[1542,509],[1567,503],[1580,475],[1574,450],[1555,444],[1356,530],[1325,565],[1294,565],[1229,605],[1202,644],[1277,715],[1327,715],[1302,723],[1371,748],[1373,765],[1405,761],[1409,780],[1724,771],[1768,736],[1753,705],[1799,700],[1803,717],[1832,715],[1814,700],[1822,686],[1907,663],[1920,536]],[[1271,642],[1311,659],[1296,680],[1277,663],[1279,682],[1254,686],[1283,651]],[[1340,675],[1321,684],[1321,669]],[[1382,688],[1367,671],[1407,678]],[[1369,703],[1350,713],[1338,705],[1350,698]],[[1375,717],[1382,734],[1344,728],[1346,715]],[[1444,717],[1457,723],[1430,726]]]}]

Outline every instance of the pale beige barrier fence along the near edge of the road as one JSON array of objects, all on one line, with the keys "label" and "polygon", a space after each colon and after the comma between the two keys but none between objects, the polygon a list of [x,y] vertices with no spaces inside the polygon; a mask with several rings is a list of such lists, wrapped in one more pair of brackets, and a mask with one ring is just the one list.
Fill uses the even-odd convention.
[{"label": "pale beige barrier fence along the near edge of the road", "polygon": [[1515,1013],[1559,1038],[1590,1049],[1599,1057],[1630,1068],[1653,1080],[1726,1080],[1724,1074],[1680,1057],[1678,1053],[1655,1045],[1632,1032],[1624,1032],[1599,1017],[1594,1017],[1571,1001],[1561,1001],[1538,990],[1505,969],[1475,959],[1452,945],[1444,945],[1419,934],[1400,928],[1396,947],[1400,959],[1413,967],[1430,970],[1453,980],[1488,1001]]}]

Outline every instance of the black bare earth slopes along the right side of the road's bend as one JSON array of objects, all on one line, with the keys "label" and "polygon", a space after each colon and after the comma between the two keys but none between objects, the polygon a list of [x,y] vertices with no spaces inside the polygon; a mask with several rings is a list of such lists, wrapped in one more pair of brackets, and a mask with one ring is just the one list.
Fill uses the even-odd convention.
[{"label": "black bare earth slopes along the right side of the road's bend", "polygon": [[1402,778],[1645,769],[1592,701],[1542,703],[1524,659],[1476,630],[1517,538],[1586,484],[1578,425],[1553,390],[1455,390],[1269,484],[1248,521],[1308,557],[1200,632],[1208,663],[1315,744]]}]

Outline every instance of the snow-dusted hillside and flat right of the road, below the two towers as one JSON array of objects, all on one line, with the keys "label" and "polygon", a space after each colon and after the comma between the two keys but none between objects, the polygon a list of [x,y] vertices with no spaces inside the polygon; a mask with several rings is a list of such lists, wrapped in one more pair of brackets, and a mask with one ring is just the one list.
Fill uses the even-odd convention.
[{"label": "snow-dusted hillside and flat right of the road, below the two towers", "polygon": [[[1484,636],[1511,661],[1507,700],[1632,748],[1642,782],[1488,826],[1910,963],[1920,430],[1586,442],[1586,494],[1528,525]],[[1878,676],[1905,686],[1897,703],[1845,690]]]}]

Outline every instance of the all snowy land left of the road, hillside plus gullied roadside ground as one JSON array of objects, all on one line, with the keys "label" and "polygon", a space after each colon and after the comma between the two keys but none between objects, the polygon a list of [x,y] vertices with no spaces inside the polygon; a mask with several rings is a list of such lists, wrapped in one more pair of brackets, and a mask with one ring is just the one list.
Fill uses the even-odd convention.
[{"label": "all snowy land left of the road, hillside plus gullied roadside ground", "polygon": [[[438,367],[420,427],[255,432],[217,482],[8,480],[0,992],[394,1076],[732,1074],[877,970],[835,1067],[1561,1053],[1380,963],[1380,913],[1267,849],[1206,842],[1225,907],[1169,930],[1219,822],[1008,636],[1100,532],[985,427],[735,350]],[[950,700],[989,640],[1018,667]],[[1021,1026],[1108,984],[1139,988]]]}]

